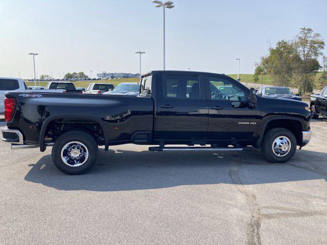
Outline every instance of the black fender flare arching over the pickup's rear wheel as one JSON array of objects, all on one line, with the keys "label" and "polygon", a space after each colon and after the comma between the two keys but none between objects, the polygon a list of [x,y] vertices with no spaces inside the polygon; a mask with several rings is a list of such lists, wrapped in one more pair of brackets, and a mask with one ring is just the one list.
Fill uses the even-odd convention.
[{"label": "black fender flare arching over the pickup's rear wheel", "polygon": [[109,148],[109,132],[106,130],[106,126],[104,121],[102,121],[100,118],[92,117],[92,116],[86,116],[86,115],[55,115],[55,116],[49,116],[42,122],[42,127],[40,131],[39,136],[39,145],[40,145],[40,151],[44,152],[46,149],[46,145],[44,144],[44,136],[45,136],[45,130],[50,124],[51,121],[56,119],[64,119],[64,118],[78,118],[78,119],[90,119],[99,122],[103,135],[104,135],[104,145],[105,145],[105,151],[108,151]]}]

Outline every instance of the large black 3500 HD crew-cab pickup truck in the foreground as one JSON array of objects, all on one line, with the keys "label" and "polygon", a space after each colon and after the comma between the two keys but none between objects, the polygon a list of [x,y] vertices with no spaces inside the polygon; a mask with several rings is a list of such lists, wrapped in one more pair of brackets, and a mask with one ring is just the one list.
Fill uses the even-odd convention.
[{"label": "large black 3500 HD crew-cab pickup truck in the foreground", "polygon": [[150,151],[252,146],[278,163],[311,138],[306,103],[256,96],[230,77],[206,72],[152,71],[139,96],[8,92],[5,106],[3,140],[12,149],[53,146],[55,165],[72,175],[90,169],[99,145],[105,151],[125,143],[157,145]]}]

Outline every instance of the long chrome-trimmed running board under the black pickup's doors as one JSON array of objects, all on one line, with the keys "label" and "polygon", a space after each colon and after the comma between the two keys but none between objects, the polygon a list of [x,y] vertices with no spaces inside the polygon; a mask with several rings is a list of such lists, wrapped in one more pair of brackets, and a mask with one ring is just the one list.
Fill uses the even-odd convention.
[{"label": "long chrome-trimmed running board under the black pickup's doors", "polygon": [[216,151],[216,152],[240,152],[244,150],[252,149],[251,147],[235,148],[235,147],[224,147],[224,148],[212,148],[212,147],[149,147],[151,152],[166,152],[166,151]]}]

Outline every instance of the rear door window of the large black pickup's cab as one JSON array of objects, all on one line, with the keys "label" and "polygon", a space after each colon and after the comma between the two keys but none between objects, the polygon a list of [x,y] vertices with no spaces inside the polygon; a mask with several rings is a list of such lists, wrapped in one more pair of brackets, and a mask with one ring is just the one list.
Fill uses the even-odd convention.
[{"label": "rear door window of the large black pickup's cab", "polygon": [[199,76],[166,75],[163,89],[167,99],[200,100]]}]

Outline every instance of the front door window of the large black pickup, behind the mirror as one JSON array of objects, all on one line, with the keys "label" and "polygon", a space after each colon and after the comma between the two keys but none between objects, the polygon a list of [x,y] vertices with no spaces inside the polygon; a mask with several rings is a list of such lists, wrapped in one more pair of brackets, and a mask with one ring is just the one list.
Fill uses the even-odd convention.
[{"label": "front door window of the large black pickup, behind the mirror", "polygon": [[216,101],[246,101],[244,90],[232,82],[218,77],[207,77],[211,99]]}]

